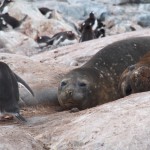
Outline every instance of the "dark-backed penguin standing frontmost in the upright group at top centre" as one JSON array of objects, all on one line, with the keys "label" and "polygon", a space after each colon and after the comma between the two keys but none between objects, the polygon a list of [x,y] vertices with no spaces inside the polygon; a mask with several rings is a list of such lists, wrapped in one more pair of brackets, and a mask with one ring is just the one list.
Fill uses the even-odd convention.
[{"label": "dark-backed penguin standing frontmost in the upright group at top centre", "polygon": [[92,30],[92,23],[85,23],[79,42],[89,41],[95,39],[95,32]]}]

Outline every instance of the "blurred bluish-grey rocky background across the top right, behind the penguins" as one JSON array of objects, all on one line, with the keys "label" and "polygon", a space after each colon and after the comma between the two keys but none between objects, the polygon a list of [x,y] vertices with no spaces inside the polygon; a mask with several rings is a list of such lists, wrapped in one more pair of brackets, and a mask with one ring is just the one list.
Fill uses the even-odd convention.
[{"label": "blurred bluish-grey rocky background across the top right, behind the penguins", "polygon": [[[41,7],[41,0],[35,0],[35,4]],[[55,8],[76,25],[93,11],[106,25],[107,36],[150,26],[149,0],[45,0],[42,6]]]}]

